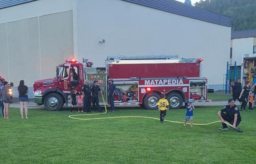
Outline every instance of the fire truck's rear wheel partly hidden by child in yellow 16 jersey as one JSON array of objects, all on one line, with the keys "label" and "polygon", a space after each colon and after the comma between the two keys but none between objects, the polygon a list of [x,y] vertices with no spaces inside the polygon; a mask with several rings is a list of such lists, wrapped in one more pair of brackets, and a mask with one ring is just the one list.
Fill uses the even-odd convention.
[{"label": "fire truck's rear wheel partly hidden by child in yellow 16 jersey", "polygon": [[143,105],[146,109],[158,109],[157,103],[161,99],[160,95],[157,93],[149,93],[143,100]]}]

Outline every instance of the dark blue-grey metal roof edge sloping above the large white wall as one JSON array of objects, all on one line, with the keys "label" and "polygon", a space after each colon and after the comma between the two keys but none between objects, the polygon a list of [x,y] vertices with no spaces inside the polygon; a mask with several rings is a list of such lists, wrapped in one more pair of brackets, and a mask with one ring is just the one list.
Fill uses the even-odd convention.
[{"label": "dark blue-grey metal roof edge sloping above the large white wall", "polygon": [[202,20],[205,22],[215,23],[222,26],[231,27],[231,17],[215,12],[210,12],[205,9],[197,8],[188,4],[178,2],[176,0],[123,0],[130,3],[143,5],[146,7],[158,9],[190,17],[193,19]]}]

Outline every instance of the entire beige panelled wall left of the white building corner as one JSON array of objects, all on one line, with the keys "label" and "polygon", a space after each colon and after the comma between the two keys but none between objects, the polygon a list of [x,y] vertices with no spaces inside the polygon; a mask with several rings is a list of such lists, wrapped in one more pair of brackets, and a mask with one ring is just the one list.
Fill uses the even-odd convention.
[{"label": "entire beige panelled wall left of the white building corner", "polygon": [[31,97],[35,80],[56,75],[60,49],[64,59],[74,57],[72,10],[2,23],[0,36],[0,75],[14,82],[15,97],[21,79]]}]

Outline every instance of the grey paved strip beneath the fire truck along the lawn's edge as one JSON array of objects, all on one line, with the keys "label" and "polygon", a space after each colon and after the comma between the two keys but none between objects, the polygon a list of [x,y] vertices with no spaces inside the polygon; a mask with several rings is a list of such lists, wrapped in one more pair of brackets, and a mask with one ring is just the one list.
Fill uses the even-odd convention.
[{"label": "grey paved strip beneath the fire truck along the lawn's edge", "polygon": [[[238,105],[239,102],[236,102]],[[227,101],[211,101],[211,102],[194,102],[194,106],[224,106],[227,105]],[[121,105],[122,107],[140,107],[139,105]],[[10,104],[11,108],[20,108],[19,102],[14,101],[12,104]],[[68,106],[64,105],[64,108],[69,108],[71,107],[71,103],[68,104]],[[116,107],[120,107],[120,105],[116,105]],[[44,108],[44,105],[37,106],[37,104],[34,103],[33,100],[30,100],[29,109],[39,109],[39,108]]]}]

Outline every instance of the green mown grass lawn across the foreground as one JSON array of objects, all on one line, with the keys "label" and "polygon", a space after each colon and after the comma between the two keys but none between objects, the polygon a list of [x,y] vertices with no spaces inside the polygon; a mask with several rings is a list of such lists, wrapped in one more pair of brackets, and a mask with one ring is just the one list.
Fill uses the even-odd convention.
[{"label": "green mown grass lawn across the foreground", "polygon": [[[220,108],[196,108],[194,122],[217,121]],[[185,109],[169,110],[165,119],[183,121],[184,114]],[[29,119],[21,119],[19,109],[10,109],[10,119],[0,118],[0,163],[256,163],[256,110],[241,113],[242,133],[221,131],[220,123],[190,127],[146,118],[85,121],[68,115],[68,110],[29,109]],[[119,108],[114,113],[78,117],[111,116],[158,118],[159,113]]]}]

